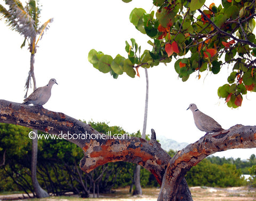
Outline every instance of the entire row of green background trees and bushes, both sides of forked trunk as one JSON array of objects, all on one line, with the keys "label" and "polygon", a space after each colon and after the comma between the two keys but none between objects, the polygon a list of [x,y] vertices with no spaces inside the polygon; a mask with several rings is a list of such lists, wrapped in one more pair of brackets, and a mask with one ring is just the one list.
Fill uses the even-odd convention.
[{"label": "entire row of green background trees and bushes, both sides of forked trunk", "polygon": [[[122,127],[109,126],[108,123],[89,122],[101,133],[126,132]],[[23,191],[34,192],[31,183],[31,130],[12,124],[0,124],[0,192]],[[140,131],[131,135],[140,136]],[[175,151],[169,150],[173,156]],[[113,192],[118,187],[134,188],[135,164],[126,162],[108,163],[99,166],[86,174],[79,168],[83,152],[76,144],[66,140],[38,140],[38,181],[47,192],[63,195],[73,192],[81,197],[93,194],[98,197],[102,193]],[[248,184],[241,174],[251,174],[251,186],[256,186],[256,158],[251,155],[248,161],[240,158],[207,157],[197,166],[191,168],[186,175],[190,186],[244,186]],[[142,187],[158,187],[154,176],[142,168]]]}]

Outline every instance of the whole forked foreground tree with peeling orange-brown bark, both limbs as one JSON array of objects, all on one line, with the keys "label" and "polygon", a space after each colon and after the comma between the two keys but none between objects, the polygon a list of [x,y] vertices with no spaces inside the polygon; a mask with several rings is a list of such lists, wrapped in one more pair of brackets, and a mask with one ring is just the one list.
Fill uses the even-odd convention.
[{"label": "whole forked foreground tree with peeling orange-brown bark, both limbs", "polygon": [[184,175],[206,156],[228,149],[256,148],[256,126],[235,125],[229,130],[202,136],[171,158],[156,141],[154,130],[151,130],[149,141],[132,136],[118,140],[106,139],[106,134],[100,134],[90,125],[63,113],[5,100],[0,100],[0,122],[22,125],[53,135],[69,132],[105,136],[105,140],[67,139],[84,151],[81,169],[88,173],[100,165],[117,161],[139,164],[150,171],[161,185],[158,196],[161,201],[192,200]]}]

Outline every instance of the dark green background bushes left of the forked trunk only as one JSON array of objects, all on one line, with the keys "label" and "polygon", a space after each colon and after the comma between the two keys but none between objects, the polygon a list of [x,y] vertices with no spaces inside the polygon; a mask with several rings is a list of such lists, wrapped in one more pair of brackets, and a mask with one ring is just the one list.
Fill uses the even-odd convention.
[{"label": "dark green background bushes left of the forked trunk only", "polygon": [[[109,126],[104,122],[91,121],[89,124],[102,133],[126,133],[122,127]],[[5,165],[0,167],[0,191],[33,191],[30,177],[31,140],[28,138],[30,131],[29,128],[22,126],[0,124],[0,163],[4,151],[7,150]],[[140,131],[131,135],[141,136]],[[146,139],[149,139],[148,135]],[[92,193],[93,183],[95,191],[99,189],[99,193],[109,193],[113,188],[132,185],[135,164],[108,163],[86,174],[79,168],[82,157],[81,148],[66,140],[38,140],[37,175],[41,187],[54,195],[71,191],[86,197]],[[81,179],[86,188],[83,187]],[[158,186],[154,176],[143,168],[141,186]]]}]

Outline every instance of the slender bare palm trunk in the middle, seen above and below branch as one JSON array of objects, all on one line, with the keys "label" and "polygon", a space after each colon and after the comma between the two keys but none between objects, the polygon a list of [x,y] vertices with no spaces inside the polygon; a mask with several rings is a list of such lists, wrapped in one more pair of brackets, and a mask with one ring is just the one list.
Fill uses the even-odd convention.
[{"label": "slender bare palm trunk in the middle, seen above and below branch", "polygon": [[[141,134],[142,139],[146,139],[146,128],[147,128],[147,118],[148,118],[148,69],[145,68],[146,75],[146,99],[145,99],[145,111],[144,111],[144,122],[143,130]],[[140,185],[140,165],[137,165],[134,172],[134,186],[133,195],[142,195],[142,189]]]}]

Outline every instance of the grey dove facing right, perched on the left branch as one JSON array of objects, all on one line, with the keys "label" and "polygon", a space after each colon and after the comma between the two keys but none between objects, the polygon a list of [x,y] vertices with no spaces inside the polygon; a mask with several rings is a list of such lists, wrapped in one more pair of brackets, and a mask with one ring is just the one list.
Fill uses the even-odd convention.
[{"label": "grey dove facing right, perched on the left branch", "polygon": [[51,97],[52,85],[57,84],[56,79],[50,79],[46,86],[38,87],[28,98],[24,99],[23,104],[34,104],[43,106]]}]

